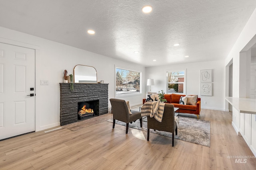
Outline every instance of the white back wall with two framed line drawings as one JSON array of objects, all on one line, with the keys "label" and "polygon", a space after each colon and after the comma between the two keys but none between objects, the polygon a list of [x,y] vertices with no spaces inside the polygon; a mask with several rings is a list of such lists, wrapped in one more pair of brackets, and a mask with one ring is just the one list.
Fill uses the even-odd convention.
[{"label": "white back wall with two framed line drawings", "polygon": [[[212,96],[200,95],[200,70],[212,69]],[[154,78],[152,92],[167,89],[167,71],[186,70],[186,94],[198,94],[201,98],[201,108],[224,110],[225,103],[225,61],[209,61],[201,63],[171,64],[166,66],[146,67],[146,79]],[[146,87],[149,91],[150,87]],[[206,102],[207,104],[204,104]]]}]

